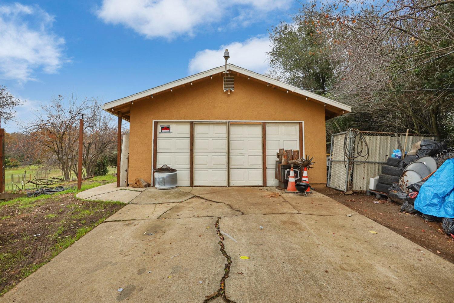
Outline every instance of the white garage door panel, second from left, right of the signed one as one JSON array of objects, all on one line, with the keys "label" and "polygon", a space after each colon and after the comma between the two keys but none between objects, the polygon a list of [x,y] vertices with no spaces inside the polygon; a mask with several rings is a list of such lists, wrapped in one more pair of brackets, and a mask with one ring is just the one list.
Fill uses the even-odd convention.
[{"label": "white garage door panel, second from left, right of the signed one", "polygon": [[228,185],[227,123],[194,123],[194,185]]}]

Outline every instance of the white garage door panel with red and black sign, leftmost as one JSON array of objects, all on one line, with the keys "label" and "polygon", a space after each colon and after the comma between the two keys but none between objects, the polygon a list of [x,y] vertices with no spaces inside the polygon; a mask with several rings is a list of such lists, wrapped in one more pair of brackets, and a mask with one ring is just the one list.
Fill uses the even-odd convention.
[{"label": "white garage door panel with red and black sign, leftmost", "polygon": [[[167,129],[169,131],[161,132]],[[156,167],[177,169],[178,186],[189,186],[189,122],[158,122]]]}]

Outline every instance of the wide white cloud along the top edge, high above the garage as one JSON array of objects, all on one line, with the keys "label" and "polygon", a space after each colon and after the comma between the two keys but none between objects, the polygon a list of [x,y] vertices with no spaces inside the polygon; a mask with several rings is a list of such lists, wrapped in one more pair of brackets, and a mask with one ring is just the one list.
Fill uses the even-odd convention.
[{"label": "wide white cloud along the top edge, high above the garage", "polygon": [[[194,35],[200,25],[235,20],[247,25],[293,0],[103,0],[97,11],[106,23],[121,24],[147,38]],[[244,20],[248,17],[248,20]]]}]

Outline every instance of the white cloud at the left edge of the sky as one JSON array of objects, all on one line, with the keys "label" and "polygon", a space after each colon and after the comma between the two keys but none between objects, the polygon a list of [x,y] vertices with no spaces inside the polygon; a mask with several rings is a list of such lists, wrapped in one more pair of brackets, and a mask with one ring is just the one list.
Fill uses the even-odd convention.
[{"label": "white cloud at the left edge of the sky", "polygon": [[0,5],[0,78],[34,80],[35,70],[52,74],[67,61],[64,39],[50,31],[53,22],[37,5]]}]

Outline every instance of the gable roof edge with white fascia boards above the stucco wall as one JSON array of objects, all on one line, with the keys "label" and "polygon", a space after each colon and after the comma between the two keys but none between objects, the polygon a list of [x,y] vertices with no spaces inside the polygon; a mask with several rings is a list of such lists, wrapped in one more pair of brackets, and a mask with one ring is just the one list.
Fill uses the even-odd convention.
[{"label": "gable roof edge with white fascia boards above the stucco wall", "polygon": [[[207,71],[195,74],[195,75],[188,76],[186,78],[178,79],[178,80],[175,80],[173,82],[169,82],[169,83],[166,83],[166,84],[163,84],[163,85],[159,85],[157,87],[153,87],[151,89],[144,90],[144,91],[142,91],[140,93],[137,93],[137,94],[132,94],[130,96],[127,96],[127,97],[124,97],[124,98],[121,98],[121,99],[117,99],[117,100],[114,100],[114,101],[110,101],[110,102],[104,103],[103,109],[106,110],[106,111],[109,111],[110,113],[115,114],[116,110],[114,108],[118,108],[118,107],[120,107],[123,104],[128,104],[128,103],[133,102],[133,101],[135,101],[137,99],[142,99],[142,98],[145,98],[145,97],[149,97],[149,96],[152,96],[153,94],[158,94],[160,92],[175,88],[175,87],[180,86],[180,85],[188,84],[190,82],[193,82],[193,81],[196,81],[196,80],[199,80],[199,79],[207,78],[207,77],[210,77],[212,75],[216,75],[216,74],[222,73],[222,72],[224,72],[224,70],[225,70],[225,65],[222,65],[222,66],[213,68],[211,70],[207,70]],[[301,89],[301,88],[298,88],[296,86],[293,86],[293,85],[290,85],[290,84],[286,84],[286,83],[284,83],[282,81],[279,81],[279,80],[276,80],[276,79],[272,79],[272,78],[267,77],[265,75],[257,74],[257,73],[255,73],[253,71],[243,69],[242,67],[239,67],[237,65],[227,64],[227,70],[230,70],[231,72],[237,72],[237,73],[245,75],[247,77],[251,77],[251,78],[263,81],[265,83],[269,83],[271,85],[275,85],[276,87],[280,87],[281,89],[288,90],[289,92],[292,92],[292,93],[295,93],[295,94],[300,94],[301,96],[304,96],[304,97],[307,97],[307,98],[311,98],[312,100],[316,100],[316,101],[319,101],[321,103],[324,103],[326,111],[331,112],[331,114],[326,114],[327,119],[331,119],[331,118],[334,118],[336,116],[351,112],[351,107],[346,105],[346,104],[343,104],[341,102],[337,102],[335,100],[331,100],[331,99],[323,97],[323,96],[321,96],[319,94],[314,94],[314,93],[312,93],[310,91],[307,91],[305,89]],[[129,120],[129,119],[127,119],[127,120]]]}]

